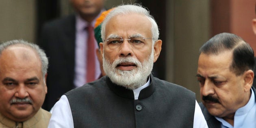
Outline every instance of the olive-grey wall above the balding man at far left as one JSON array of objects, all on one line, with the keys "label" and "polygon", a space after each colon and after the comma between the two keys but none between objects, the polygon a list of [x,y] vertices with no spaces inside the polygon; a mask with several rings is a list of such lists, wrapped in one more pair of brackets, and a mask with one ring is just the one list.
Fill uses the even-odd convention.
[{"label": "olive-grey wall above the balding man at far left", "polygon": [[35,41],[35,0],[0,1],[0,41]]}]

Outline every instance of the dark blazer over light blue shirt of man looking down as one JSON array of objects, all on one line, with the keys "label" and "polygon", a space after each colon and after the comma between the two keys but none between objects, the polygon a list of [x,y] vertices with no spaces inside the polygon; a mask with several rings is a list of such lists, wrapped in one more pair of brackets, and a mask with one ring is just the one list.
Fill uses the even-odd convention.
[{"label": "dark blazer over light blue shirt of man looking down", "polygon": [[[254,87],[252,87],[252,90],[254,91],[254,94],[256,94]],[[256,98],[256,95],[255,95],[255,98]],[[206,109],[206,107],[202,102],[199,103],[199,106],[204,114],[204,118],[207,122],[208,128],[221,128],[221,122],[218,121],[213,115],[210,115],[210,113],[208,112],[208,110]]]}]

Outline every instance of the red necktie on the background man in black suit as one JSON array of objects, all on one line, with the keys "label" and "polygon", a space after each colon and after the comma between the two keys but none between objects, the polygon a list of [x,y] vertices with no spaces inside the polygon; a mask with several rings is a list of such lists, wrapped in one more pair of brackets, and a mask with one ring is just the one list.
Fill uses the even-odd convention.
[{"label": "red necktie on the background man in black suit", "polygon": [[88,30],[88,40],[87,40],[87,82],[95,80],[95,42],[94,42],[94,32],[92,26],[87,26]]}]

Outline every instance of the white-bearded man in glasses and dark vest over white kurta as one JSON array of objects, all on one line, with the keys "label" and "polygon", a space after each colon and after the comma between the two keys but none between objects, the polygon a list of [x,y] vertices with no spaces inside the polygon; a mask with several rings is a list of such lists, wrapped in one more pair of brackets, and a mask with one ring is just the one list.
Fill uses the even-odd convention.
[{"label": "white-bearded man in glasses and dark vest over white kurta", "polygon": [[151,74],[162,41],[149,11],[118,6],[101,34],[106,76],[65,93],[49,128],[208,128],[195,93]]}]

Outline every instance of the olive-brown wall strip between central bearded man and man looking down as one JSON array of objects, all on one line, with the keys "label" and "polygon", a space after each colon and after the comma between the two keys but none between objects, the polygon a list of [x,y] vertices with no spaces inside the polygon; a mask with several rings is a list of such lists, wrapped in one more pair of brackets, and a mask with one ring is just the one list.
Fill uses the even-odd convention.
[{"label": "olive-brown wall strip between central bearded man and man looking down", "polygon": [[171,0],[166,6],[169,12],[166,78],[195,92],[200,101],[195,75],[198,50],[209,38],[209,0]]}]

